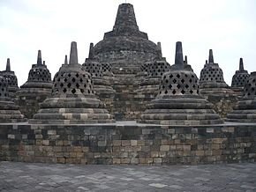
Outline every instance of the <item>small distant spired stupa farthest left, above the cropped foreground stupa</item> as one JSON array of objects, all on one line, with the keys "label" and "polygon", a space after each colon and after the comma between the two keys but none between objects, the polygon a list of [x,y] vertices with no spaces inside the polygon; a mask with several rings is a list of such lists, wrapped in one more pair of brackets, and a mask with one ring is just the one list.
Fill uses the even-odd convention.
[{"label": "small distant spired stupa farthest left, above the cropped foreground stupa", "polygon": [[11,99],[14,99],[15,92],[19,90],[19,86],[18,79],[14,71],[11,70],[10,58],[7,59],[6,69],[1,71],[0,75],[8,80],[9,96]]}]

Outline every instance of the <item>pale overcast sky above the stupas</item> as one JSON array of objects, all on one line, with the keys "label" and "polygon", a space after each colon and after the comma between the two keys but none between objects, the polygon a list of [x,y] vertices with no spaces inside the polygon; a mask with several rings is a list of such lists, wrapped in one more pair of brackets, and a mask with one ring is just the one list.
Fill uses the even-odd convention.
[{"label": "pale overcast sky above the stupas", "polygon": [[[79,63],[112,30],[118,4],[125,0],[0,0],[0,70],[11,58],[19,85],[26,82],[37,50],[52,78],[77,41]],[[200,78],[200,70],[213,48],[225,81],[244,58],[245,70],[256,70],[255,0],[127,0],[134,6],[140,31],[162,42],[162,54],[174,63],[175,43],[183,42],[184,55]]]}]

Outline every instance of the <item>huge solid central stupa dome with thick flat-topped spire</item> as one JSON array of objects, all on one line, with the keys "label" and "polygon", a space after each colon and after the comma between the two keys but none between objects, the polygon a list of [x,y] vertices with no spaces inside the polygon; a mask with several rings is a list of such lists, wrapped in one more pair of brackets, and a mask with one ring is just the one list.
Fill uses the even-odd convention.
[{"label": "huge solid central stupa dome with thick flat-topped spire", "polygon": [[94,54],[114,73],[137,73],[141,63],[157,57],[157,45],[139,31],[132,4],[120,4],[113,30],[94,46]]}]

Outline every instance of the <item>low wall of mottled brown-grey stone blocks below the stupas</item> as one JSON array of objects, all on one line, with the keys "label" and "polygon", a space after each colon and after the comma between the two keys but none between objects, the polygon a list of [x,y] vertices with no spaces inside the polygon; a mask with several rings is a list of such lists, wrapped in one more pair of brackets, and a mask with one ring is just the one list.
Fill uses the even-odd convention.
[{"label": "low wall of mottled brown-grey stone blocks below the stupas", "polygon": [[0,125],[0,160],[204,164],[256,160],[256,125]]}]

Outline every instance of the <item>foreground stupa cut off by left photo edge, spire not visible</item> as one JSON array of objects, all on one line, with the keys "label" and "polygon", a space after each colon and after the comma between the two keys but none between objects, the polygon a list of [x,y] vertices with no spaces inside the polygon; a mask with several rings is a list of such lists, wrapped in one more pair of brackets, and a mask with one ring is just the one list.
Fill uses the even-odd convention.
[{"label": "foreground stupa cut off by left photo edge, spire not visible", "polygon": [[19,106],[9,98],[8,80],[0,76],[0,122],[26,122]]}]

